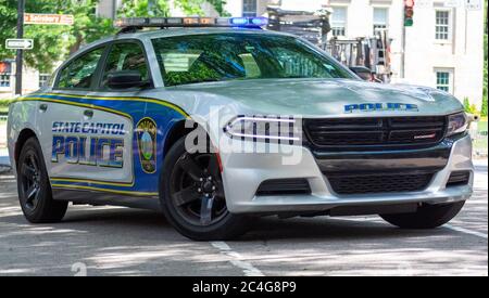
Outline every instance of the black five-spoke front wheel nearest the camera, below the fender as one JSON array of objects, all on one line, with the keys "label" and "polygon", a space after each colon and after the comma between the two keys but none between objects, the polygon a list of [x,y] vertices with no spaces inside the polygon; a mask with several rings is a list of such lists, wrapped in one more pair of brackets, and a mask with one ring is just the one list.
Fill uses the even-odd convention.
[{"label": "black five-spoke front wheel nearest the camera, below the fender", "polygon": [[[160,180],[160,203],[170,223],[190,239],[231,239],[248,231],[247,217],[227,210],[215,154],[188,153],[185,138],[166,155]],[[206,177],[212,178],[209,183]]]}]

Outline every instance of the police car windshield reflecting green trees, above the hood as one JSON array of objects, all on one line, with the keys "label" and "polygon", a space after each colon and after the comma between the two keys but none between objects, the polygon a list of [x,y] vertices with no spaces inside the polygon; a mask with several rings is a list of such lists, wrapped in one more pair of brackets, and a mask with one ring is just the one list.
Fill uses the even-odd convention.
[{"label": "police car windshield reflecting green trees, above the hood", "polygon": [[300,39],[259,34],[215,34],[153,40],[165,86],[204,81],[353,78]]}]

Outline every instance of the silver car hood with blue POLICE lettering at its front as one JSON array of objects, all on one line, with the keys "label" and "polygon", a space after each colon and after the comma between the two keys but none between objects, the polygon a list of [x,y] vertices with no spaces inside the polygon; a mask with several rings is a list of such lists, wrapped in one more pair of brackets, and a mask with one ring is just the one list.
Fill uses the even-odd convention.
[{"label": "silver car hood with blue POLICE lettering at its front", "polygon": [[[449,93],[418,86],[380,85],[350,79],[260,79],[205,82],[172,88],[199,104],[226,104],[243,115],[358,117],[447,115],[463,108]],[[184,94],[183,94],[184,93]],[[199,102],[199,103],[198,103]],[[365,103],[415,104],[417,111],[344,112],[346,105]],[[196,105],[197,104],[197,105]],[[193,109],[193,108],[192,108]],[[196,111],[192,111],[196,112]]]}]

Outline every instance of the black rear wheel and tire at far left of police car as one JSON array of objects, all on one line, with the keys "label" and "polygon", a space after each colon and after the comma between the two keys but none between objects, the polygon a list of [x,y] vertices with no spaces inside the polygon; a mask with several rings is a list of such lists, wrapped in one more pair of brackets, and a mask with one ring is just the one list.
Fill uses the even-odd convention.
[{"label": "black rear wheel and tire at far left of police car", "polygon": [[48,171],[36,138],[25,142],[17,165],[18,200],[25,218],[32,223],[61,221],[68,203],[52,198]]}]

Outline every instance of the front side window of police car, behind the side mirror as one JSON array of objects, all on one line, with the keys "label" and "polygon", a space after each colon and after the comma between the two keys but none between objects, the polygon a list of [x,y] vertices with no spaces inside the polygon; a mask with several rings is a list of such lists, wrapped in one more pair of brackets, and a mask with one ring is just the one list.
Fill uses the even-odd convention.
[{"label": "front side window of police car, behind the side mirror", "polygon": [[139,44],[115,43],[106,57],[105,68],[102,76],[102,88],[109,89],[109,74],[121,70],[138,70],[143,81],[149,80],[148,64],[145,53]]}]

